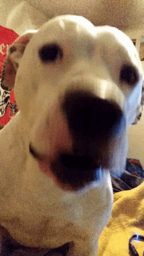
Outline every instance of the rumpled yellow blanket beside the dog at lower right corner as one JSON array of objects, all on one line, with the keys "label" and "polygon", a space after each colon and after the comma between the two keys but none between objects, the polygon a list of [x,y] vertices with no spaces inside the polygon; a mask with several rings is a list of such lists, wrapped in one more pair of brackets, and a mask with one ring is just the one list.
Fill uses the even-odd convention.
[{"label": "rumpled yellow blanket beside the dog at lower right corner", "polygon": [[[144,236],[144,182],[130,191],[114,195],[109,223],[99,239],[98,256],[130,256],[129,240],[134,234]],[[144,242],[133,241],[139,256],[144,255]]]}]

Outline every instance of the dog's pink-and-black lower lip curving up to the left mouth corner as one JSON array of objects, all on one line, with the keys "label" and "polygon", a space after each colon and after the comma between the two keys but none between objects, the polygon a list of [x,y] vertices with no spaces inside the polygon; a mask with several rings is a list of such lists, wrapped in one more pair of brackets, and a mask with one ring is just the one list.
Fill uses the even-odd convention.
[{"label": "dog's pink-and-black lower lip curving up to the left mouth corner", "polygon": [[[63,191],[81,191],[82,189],[86,189],[86,187],[90,187],[92,183],[96,183],[97,181],[101,180],[103,177],[103,168],[98,164],[92,164],[91,158],[86,155],[72,155],[72,154],[62,154],[60,157],[60,166],[53,165],[52,160],[50,159],[50,156],[45,156],[39,154],[33,146],[29,145],[29,151],[31,155],[37,160],[38,162],[38,168],[43,173],[46,174],[46,176],[52,178],[54,183],[58,185]],[[65,158],[66,157],[66,158]],[[59,168],[60,167],[60,168]],[[64,179],[62,178],[61,172],[55,172],[55,170],[61,170],[65,172]],[[67,181],[65,181],[65,177],[67,177],[67,170],[72,170],[71,178]],[[79,180],[79,177],[77,177],[77,171],[81,170],[81,175],[84,175],[84,172],[87,172],[88,170],[96,170],[96,173],[92,175],[92,177],[89,175],[86,176],[86,179],[82,181],[82,183],[77,184],[77,179]],[[79,171],[78,171],[79,172]],[[74,173],[74,176],[73,176]],[[65,176],[66,175],[66,176]],[[75,176],[76,175],[76,176]],[[76,177],[76,179],[75,179]],[[74,182],[71,182],[71,181]]]}]

